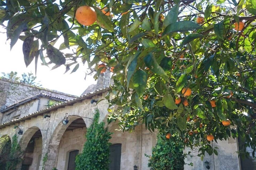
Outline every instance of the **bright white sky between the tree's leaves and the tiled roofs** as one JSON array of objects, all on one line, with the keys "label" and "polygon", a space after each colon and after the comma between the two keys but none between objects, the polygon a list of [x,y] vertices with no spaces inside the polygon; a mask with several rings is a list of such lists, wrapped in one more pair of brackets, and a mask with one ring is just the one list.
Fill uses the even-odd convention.
[{"label": "bright white sky between the tree's leaves and the tiled roofs", "polygon": [[[5,32],[5,30],[0,28],[0,32]],[[19,77],[21,77],[22,73],[27,73],[30,71],[35,74],[34,60],[26,68],[23,59],[22,43],[23,41],[18,40],[10,51],[10,43],[6,42],[6,34],[0,33],[0,76],[2,75],[2,72],[9,73],[11,71],[17,71]],[[59,42],[59,44],[60,43],[62,42]],[[56,45],[55,47],[58,48],[58,46],[59,45]],[[51,65],[51,67],[52,66],[53,65]],[[96,84],[96,81],[93,79],[93,76],[87,76],[86,80],[84,79],[86,65],[80,65],[76,72],[70,74],[74,66],[71,66],[68,73],[63,74],[66,70],[65,66],[51,70],[51,68],[47,66],[42,66],[39,58],[37,64],[36,81],[40,81],[39,83],[42,84],[41,87],[80,96],[90,84]]]}]

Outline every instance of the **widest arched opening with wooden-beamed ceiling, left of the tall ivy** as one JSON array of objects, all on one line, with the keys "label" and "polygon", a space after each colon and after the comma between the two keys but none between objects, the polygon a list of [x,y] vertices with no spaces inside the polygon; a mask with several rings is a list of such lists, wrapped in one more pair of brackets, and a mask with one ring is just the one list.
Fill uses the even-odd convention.
[{"label": "widest arched opening with wooden-beamed ceiling, left of the tall ivy", "polygon": [[73,121],[71,119],[69,124],[63,125],[61,122],[58,126],[62,128],[56,128],[58,131],[54,131],[50,143],[50,148],[57,150],[55,166],[57,169],[73,170],[75,169],[75,157],[79,151],[82,151],[86,141],[85,121],[83,118],[77,118]]}]

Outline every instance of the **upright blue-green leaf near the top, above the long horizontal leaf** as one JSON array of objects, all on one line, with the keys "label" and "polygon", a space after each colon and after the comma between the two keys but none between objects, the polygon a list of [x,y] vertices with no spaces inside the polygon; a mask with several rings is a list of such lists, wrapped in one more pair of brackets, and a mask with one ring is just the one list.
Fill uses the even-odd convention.
[{"label": "upright blue-green leaf near the top, above the long horizontal leaf", "polygon": [[168,14],[166,15],[165,20],[163,21],[162,32],[165,30],[165,28],[168,25],[175,23],[177,21],[178,14],[179,14],[179,4],[172,7],[168,12]]}]

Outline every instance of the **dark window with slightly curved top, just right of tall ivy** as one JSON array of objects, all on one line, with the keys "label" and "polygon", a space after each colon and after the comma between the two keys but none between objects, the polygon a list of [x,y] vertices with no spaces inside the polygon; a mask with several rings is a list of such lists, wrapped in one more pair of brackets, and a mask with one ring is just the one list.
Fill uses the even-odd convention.
[{"label": "dark window with slightly curved top, just right of tall ivy", "polygon": [[109,164],[109,170],[120,170],[120,164],[121,164],[121,146],[122,144],[118,143],[115,145],[111,145],[109,147],[110,150],[110,164]]}]

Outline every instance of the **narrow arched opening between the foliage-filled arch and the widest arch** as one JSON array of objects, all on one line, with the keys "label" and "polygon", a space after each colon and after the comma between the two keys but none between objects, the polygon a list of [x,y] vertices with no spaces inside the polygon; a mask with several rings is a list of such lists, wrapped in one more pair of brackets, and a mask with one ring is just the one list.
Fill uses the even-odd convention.
[{"label": "narrow arched opening between the foliage-filled arch and the widest arch", "polygon": [[42,133],[37,127],[26,130],[21,138],[23,159],[21,170],[39,170],[42,155]]}]

